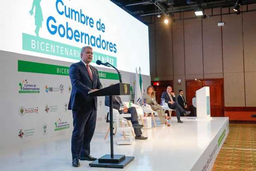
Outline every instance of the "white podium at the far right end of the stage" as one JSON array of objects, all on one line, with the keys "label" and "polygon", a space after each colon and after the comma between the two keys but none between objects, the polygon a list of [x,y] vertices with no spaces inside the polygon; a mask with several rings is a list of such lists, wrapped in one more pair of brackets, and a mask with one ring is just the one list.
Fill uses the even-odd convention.
[{"label": "white podium at the far right end of the stage", "polygon": [[197,97],[197,118],[210,119],[210,87],[202,87],[196,91]]}]

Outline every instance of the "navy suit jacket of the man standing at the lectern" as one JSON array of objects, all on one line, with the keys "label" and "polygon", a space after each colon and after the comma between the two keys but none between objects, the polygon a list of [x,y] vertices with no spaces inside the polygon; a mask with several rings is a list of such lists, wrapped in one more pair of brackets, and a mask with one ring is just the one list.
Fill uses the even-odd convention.
[{"label": "navy suit jacket of the man standing at the lectern", "polygon": [[69,68],[69,77],[72,84],[71,96],[69,99],[69,110],[90,110],[95,107],[97,110],[97,97],[90,97],[88,92],[92,89],[101,89],[99,73],[96,68],[90,66],[93,80],[90,79],[88,70],[82,61],[73,63]]}]

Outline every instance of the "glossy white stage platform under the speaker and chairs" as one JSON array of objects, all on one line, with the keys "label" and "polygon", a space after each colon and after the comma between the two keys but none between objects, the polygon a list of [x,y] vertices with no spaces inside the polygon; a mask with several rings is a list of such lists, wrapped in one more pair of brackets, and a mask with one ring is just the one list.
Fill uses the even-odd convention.
[{"label": "glossy white stage platform under the speaker and chairs", "polygon": [[[132,145],[114,144],[114,153],[134,156],[124,169],[93,168],[88,161],[71,166],[70,137],[0,150],[1,171],[206,171],[211,170],[216,156],[229,132],[228,117],[211,120],[182,117],[183,124],[172,117],[171,126],[157,124],[143,130],[146,141]],[[3,130],[2,130],[3,131]],[[91,143],[91,155],[110,153],[105,132],[96,131]],[[4,137],[1,137],[4,138]]]}]

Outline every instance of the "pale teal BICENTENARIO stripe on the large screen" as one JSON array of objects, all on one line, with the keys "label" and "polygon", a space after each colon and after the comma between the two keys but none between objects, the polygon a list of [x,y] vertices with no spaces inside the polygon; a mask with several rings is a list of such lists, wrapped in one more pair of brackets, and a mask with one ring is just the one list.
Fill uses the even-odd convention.
[{"label": "pale teal BICENTENARIO stripe on the large screen", "polygon": [[[22,49],[76,60],[80,60],[81,52],[81,48],[79,47],[66,45],[26,33],[22,33]],[[109,62],[111,65],[117,66],[116,57],[93,52],[92,63],[96,63],[97,60],[101,60],[103,63]]]}]

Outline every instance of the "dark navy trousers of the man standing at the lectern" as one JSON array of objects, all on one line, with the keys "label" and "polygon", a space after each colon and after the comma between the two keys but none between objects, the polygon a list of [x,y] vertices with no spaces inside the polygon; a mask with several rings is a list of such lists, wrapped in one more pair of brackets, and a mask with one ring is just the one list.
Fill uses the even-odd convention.
[{"label": "dark navy trousers of the man standing at the lectern", "polygon": [[90,155],[90,142],[95,131],[97,110],[72,110],[73,133],[71,138],[72,158]]}]

